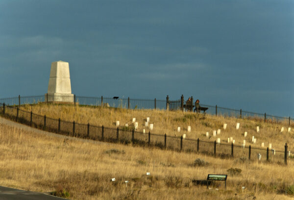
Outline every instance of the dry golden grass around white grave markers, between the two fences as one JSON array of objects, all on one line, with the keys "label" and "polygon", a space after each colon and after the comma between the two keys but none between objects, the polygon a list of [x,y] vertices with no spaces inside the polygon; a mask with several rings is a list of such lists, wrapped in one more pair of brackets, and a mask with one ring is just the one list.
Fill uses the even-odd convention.
[{"label": "dry golden grass around white grave markers, between the two fences", "polygon": [[[163,110],[130,110],[105,107],[91,106],[73,106],[73,105],[56,105],[56,104],[35,104],[25,105],[22,109],[33,111],[37,114],[46,115],[51,118],[61,118],[67,121],[75,121],[78,123],[92,125],[104,125],[115,127],[116,121],[120,121],[120,127],[126,123],[133,125],[132,119],[136,118],[139,123],[139,130],[149,131],[145,126],[146,118],[150,117],[150,123],[154,128],[152,133],[167,134],[180,136],[186,134],[187,138],[199,138],[207,140],[206,132],[209,132],[208,140],[214,141],[221,138],[221,142],[227,143],[228,137],[236,140],[235,144],[242,145],[246,140],[246,145],[261,147],[261,143],[265,143],[265,148],[272,144],[272,149],[284,150],[285,143],[288,144],[288,150],[294,151],[294,130],[288,133],[288,125],[270,124],[263,121],[223,118],[210,115],[203,115],[190,112]],[[224,130],[223,124],[227,124]],[[236,124],[240,123],[239,130],[236,130]],[[191,126],[191,132],[187,131],[188,125]],[[177,132],[177,127],[181,127],[181,132]],[[256,132],[256,126],[260,127],[260,132]],[[283,133],[280,132],[281,127],[285,127]],[[217,137],[211,137],[213,130],[221,129],[221,134]],[[244,137],[244,132],[247,137]],[[252,142],[252,136],[257,138],[256,144]]]}]

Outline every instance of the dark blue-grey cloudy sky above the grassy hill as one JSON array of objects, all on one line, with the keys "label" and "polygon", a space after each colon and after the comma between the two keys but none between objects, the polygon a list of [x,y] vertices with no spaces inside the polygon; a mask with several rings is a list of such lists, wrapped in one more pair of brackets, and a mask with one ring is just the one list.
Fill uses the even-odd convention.
[{"label": "dark blue-grey cloudy sky above the grassy hill", "polygon": [[72,92],[294,117],[293,0],[0,0],[0,98]]}]

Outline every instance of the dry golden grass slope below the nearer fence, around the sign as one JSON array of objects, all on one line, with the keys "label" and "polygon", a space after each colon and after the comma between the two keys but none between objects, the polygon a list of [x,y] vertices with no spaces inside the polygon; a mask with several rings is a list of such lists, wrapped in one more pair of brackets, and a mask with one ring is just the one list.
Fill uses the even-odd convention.
[{"label": "dry golden grass slope below the nearer fence, around the sign", "polygon": [[[47,192],[64,188],[73,200],[293,198],[285,195],[285,189],[294,184],[293,167],[100,143],[17,126],[0,124],[0,185],[3,186]],[[195,167],[196,158],[209,164]],[[193,182],[205,180],[207,174],[227,174],[229,168],[239,168],[242,173],[228,176],[226,191],[223,182],[210,186],[212,190]],[[147,176],[147,172],[151,175]],[[113,177],[115,182],[110,181]],[[129,180],[127,187],[125,180]],[[242,186],[246,187],[244,192]],[[220,190],[215,190],[216,187]]]}]

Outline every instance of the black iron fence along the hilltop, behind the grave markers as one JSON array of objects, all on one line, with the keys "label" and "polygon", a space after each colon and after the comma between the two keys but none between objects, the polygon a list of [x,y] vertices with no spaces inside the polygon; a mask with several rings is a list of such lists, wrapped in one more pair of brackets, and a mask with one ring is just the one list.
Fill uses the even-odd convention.
[{"label": "black iron fence along the hilltop, behind the grave markers", "polygon": [[[186,101],[184,101],[183,95],[179,100],[170,100],[167,96],[166,100],[147,100],[147,99],[130,99],[130,98],[105,98],[101,97],[85,97],[76,95],[39,95],[39,96],[18,96],[13,98],[1,98],[0,103],[6,105],[24,105],[24,104],[36,104],[42,102],[53,103],[69,103],[78,105],[89,106],[107,106],[126,109],[160,109],[160,110],[183,110]],[[193,111],[193,97],[191,98],[191,108]],[[294,118],[274,116],[267,113],[256,113],[245,110],[237,110],[231,108],[225,108],[218,105],[200,104],[201,107],[207,107],[206,111],[209,115],[216,115],[230,118],[242,118],[260,120],[268,123],[280,123],[285,125],[294,125]]]}]

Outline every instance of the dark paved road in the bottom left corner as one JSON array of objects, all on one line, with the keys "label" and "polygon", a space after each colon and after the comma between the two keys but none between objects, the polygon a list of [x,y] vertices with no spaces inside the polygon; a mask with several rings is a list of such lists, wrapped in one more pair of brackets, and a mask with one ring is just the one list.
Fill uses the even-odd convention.
[{"label": "dark paved road in the bottom left corner", "polygon": [[0,186],[0,200],[66,200],[46,193],[30,192]]}]

